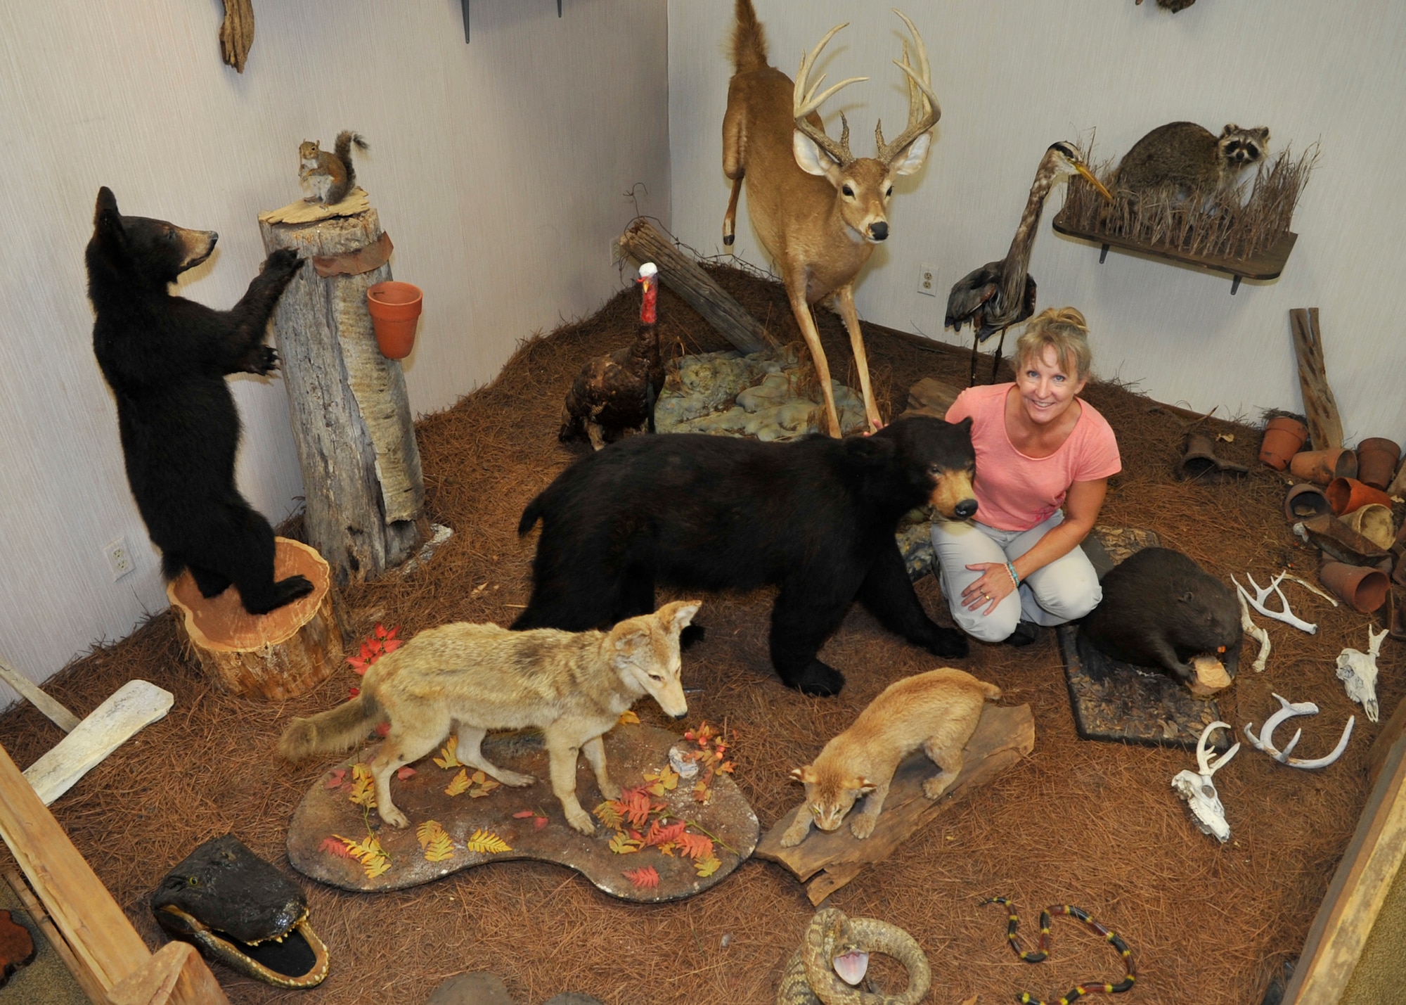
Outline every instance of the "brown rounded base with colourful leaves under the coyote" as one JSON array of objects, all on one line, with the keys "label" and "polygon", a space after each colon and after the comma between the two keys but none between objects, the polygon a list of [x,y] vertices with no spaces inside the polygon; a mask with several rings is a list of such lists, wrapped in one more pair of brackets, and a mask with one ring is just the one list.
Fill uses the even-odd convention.
[{"label": "brown rounded base with colourful leaves under the coyote", "polygon": [[[640,785],[647,771],[666,767],[669,747],[692,746],[666,729],[645,725],[616,726],[606,733],[605,743],[610,777],[624,788]],[[474,798],[467,791],[449,795],[444,790],[461,769],[439,767],[433,760],[440,756],[439,750],[416,761],[411,777],[392,778],[395,805],[411,821],[399,830],[384,825],[375,809],[366,812],[349,798],[353,764],[370,764],[374,756],[375,747],[363,750],[321,776],[294,811],[288,823],[288,863],[304,876],[343,890],[380,892],[430,883],[485,863],[537,859],[576,870],[612,897],[657,904],[693,897],[717,885],[752,854],[761,830],[756,815],[728,776],[714,776],[707,805],[693,799],[692,781],[681,780],[673,791],[652,801],[666,804],[673,819],[693,823],[690,830],[706,830],[713,838],[713,850],[721,863],[717,871],[697,876],[693,860],[681,852],[668,856],[648,847],[616,854],[610,850],[614,830],[600,826],[599,821],[596,833],[589,838],[567,825],[561,802],[547,781],[547,750],[533,733],[496,735],[484,743],[484,756],[491,763],[537,778],[523,788],[498,785],[484,798]],[[467,770],[474,774],[474,769]],[[585,757],[576,764],[576,798],[588,812],[602,801]],[[519,818],[516,814],[527,815]],[[538,828],[537,819],[546,823]],[[429,861],[416,839],[416,829],[427,821],[436,821],[450,836],[451,854],[443,861]],[[367,826],[389,860],[389,868],[374,877],[360,861],[336,853],[336,836],[364,842]],[[467,840],[477,830],[496,835],[508,850],[470,852]],[[624,876],[624,870],[647,866],[659,876],[657,887],[637,887]]]}]

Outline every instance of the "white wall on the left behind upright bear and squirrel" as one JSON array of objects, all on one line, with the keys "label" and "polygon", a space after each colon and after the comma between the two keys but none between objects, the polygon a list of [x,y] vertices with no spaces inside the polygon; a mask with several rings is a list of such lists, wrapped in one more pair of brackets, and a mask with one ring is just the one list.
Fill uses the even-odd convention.
[{"label": "white wall on the left behind upright bear and squirrel", "polygon": [[[256,215],[301,196],[298,142],[356,128],[357,175],[425,290],[416,412],[494,377],[517,339],[619,284],[606,242],[669,217],[666,11],[651,0],[254,4],[243,75],[218,0],[0,4],[0,659],[34,680],[166,607],[91,350],[83,248],[110,186],[124,213],[217,229],[181,293],[231,305],[263,251]],[[235,379],[240,487],[274,522],[301,476],[278,380]],[[136,570],[112,583],[103,545]],[[10,693],[0,687],[0,704]]]}]

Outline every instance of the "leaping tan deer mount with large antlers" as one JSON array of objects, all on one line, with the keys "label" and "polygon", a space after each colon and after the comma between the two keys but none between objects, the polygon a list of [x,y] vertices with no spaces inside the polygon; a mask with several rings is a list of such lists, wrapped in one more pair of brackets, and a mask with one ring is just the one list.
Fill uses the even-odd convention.
[{"label": "leaping tan deer mount with large antlers", "polygon": [[735,72],[727,89],[727,114],[723,118],[723,173],[733,179],[733,197],[723,220],[723,244],[733,244],[737,196],[745,177],[752,227],[786,283],[786,297],[825,394],[825,418],[832,436],[839,435],[839,417],[830,386],[830,365],[810,305],[835,297],[855,352],[865,418],[870,428],[880,426],[883,421],[869,384],[869,360],[855,314],[853,282],[875,245],[889,238],[889,197],[893,196],[894,179],[912,175],[922,166],[932,142],[932,127],[942,114],[932,93],[922,38],[912,21],[897,10],[894,13],[912,34],[917,56],[914,66],[904,45],[903,61],[894,61],[908,79],[908,125],[887,144],[879,124],[875,128],[876,156],[856,158],[849,152],[849,122],[844,113],[839,115],[839,139],[835,141],[825,134],[817,110],[841,87],[869,77],[842,80],[820,94],[824,75],[814,84],[807,82],[825,44],[845,25],[831,28],[801,58],[792,83],[766,62],[766,38],[751,0],[737,0],[737,28],[733,34]]}]

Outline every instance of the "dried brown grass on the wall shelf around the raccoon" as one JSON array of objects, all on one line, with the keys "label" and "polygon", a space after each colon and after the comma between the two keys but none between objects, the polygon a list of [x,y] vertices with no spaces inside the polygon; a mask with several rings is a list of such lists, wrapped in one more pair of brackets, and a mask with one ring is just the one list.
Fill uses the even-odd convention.
[{"label": "dried brown grass on the wall shelf around the raccoon", "polygon": [[[1115,190],[1114,162],[1091,159],[1092,139],[1080,152],[1099,180]],[[1296,159],[1285,148],[1260,165],[1249,198],[1243,198],[1241,184],[1226,191],[1192,191],[1185,200],[1150,194],[1133,198],[1115,190],[1109,204],[1076,175],[1060,213],[1078,234],[1122,238],[1198,258],[1244,260],[1274,248],[1288,234],[1317,158],[1317,144]]]}]

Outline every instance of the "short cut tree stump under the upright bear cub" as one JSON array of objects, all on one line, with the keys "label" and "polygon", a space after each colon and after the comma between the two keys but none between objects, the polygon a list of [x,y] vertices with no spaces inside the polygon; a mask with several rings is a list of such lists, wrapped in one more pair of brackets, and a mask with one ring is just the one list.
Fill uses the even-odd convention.
[{"label": "short cut tree stump under the upright bear cub", "polygon": [[274,577],[307,576],[312,581],[307,597],[253,615],[235,587],[201,597],[188,570],[166,586],[166,595],[187,649],[207,674],[232,694],[283,701],[316,687],[342,666],[342,629],[326,560],[302,542],[274,541]]}]

